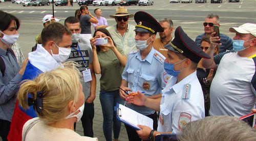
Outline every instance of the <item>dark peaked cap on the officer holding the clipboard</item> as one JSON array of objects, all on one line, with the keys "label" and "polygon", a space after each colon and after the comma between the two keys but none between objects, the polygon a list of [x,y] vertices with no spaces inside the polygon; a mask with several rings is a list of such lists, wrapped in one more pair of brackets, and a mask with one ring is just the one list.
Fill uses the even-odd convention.
[{"label": "dark peaked cap on the officer holding the clipboard", "polygon": [[181,53],[195,63],[198,63],[202,58],[210,59],[210,56],[204,53],[202,49],[198,48],[197,43],[187,36],[181,26],[175,30],[174,40],[164,45],[164,48]]}]

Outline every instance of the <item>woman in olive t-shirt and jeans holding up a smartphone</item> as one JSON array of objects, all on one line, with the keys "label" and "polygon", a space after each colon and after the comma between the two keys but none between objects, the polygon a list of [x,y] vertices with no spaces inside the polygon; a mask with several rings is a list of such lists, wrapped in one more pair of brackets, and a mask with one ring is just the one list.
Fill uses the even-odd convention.
[{"label": "woman in olive t-shirt and jeans holding up a smartphone", "polygon": [[[107,44],[95,45],[97,38],[108,38]],[[93,67],[100,77],[100,103],[103,113],[103,132],[107,141],[112,140],[112,123],[114,140],[118,140],[121,122],[117,120],[114,106],[116,103],[124,104],[119,97],[119,88],[122,81],[123,68],[126,57],[123,50],[117,48],[108,30],[100,28],[94,32],[90,39],[93,49]]]}]

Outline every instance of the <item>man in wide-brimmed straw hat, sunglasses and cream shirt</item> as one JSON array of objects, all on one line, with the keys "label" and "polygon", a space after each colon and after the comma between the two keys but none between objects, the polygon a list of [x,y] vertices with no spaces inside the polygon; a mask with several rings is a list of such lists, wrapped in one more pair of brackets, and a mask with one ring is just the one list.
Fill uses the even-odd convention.
[{"label": "man in wide-brimmed straw hat, sunglasses and cream shirt", "polygon": [[110,15],[110,17],[115,18],[117,24],[106,28],[110,32],[116,47],[121,48],[126,57],[131,51],[136,50],[134,43],[135,27],[128,24],[129,18],[133,16],[133,14],[128,14],[125,7],[117,7],[116,14]]}]

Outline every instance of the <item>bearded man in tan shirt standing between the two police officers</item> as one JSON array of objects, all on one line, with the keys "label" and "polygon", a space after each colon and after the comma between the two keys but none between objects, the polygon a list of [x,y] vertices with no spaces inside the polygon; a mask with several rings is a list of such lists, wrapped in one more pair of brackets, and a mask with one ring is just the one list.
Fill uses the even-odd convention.
[{"label": "bearded man in tan shirt standing between the two police officers", "polygon": [[163,45],[172,41],[172,33],[174,30],[173,21],[171,19],[163,18],[158,21],[163,28],[163,32],[159,32],[160,38],[153,42],[154,49],[160,52],[164,57],[167,57],[167,49]]}]

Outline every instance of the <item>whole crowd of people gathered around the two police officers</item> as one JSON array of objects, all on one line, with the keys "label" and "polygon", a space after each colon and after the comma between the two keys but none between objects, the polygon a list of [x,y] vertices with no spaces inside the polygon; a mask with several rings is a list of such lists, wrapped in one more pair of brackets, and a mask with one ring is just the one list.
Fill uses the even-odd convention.
[{"label": "whole crowd of people gathered around the two police officers", "polygon": [[[0,10],[2,140],[98,140],[95,74],[100,74],[107,141],[119,138],[117,103],[153,119],[153,129],[125,124],[132,141],[154,140],[157,134],[179,134],[180,140],[255,139],[256,130],[237,119],[256,112],[255,23],[229,28],[236,34],[232,40],[216,36],[220,17],[209,14],[205,33],[194,41],[182,27],[174,30],[170,18],[157,21],[144,11],[130,14],[117,7],[110,15],[116,24],[108,25],[99,8],[94,14],[81,6],[64,25],[46,15],[24,58],[16,42],[20,21]],[[128,23],[131,17],[137,25]],[[84,136],[75,132],[80,120]],[[233,126],[239,129],[229,130]]]}]

